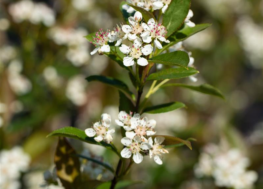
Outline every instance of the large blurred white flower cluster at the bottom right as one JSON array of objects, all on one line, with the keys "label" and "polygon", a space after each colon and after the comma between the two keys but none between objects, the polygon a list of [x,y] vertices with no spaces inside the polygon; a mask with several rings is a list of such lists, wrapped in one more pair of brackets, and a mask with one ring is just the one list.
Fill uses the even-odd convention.
[{"label": "large blurred white flower cluster at the bottom right", "polygon": [[238,149],[226,149],[209,144],[195,166],[197,177],[212,176],[219,187],[249,189],[257,180],[255,171],[247,171],[249,159]]}]

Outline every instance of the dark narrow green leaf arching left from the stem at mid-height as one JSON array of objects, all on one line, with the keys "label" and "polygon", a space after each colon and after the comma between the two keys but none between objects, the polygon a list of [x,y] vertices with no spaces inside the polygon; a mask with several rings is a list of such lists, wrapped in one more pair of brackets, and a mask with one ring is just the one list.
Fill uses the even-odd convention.
[{"label": "dark narrow green leaf arching left from the stem at mid-height", "polygon": [[86,79],[88,82],[99,81],[99,82],[111,85],[117,89],[122,90],[123,92],[126,92],[133,99],[135,99],[135,95],[129,90],[128,86],[118,79],[114,79],[112,77],[106,77],[106,76],[97,76],[97,75],[89,76]]}]

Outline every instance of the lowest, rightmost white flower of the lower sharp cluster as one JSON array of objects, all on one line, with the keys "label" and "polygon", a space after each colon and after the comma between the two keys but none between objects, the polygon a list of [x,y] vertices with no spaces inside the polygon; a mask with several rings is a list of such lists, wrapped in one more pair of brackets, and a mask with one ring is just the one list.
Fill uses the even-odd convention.
[{"label": "lowest, rightmost white flower of the lower sharp cluster", "polygon": [[162,161],[163,155],[162,154],[169,153],[166,149],[163,148],[164,145],[161,145],[164,140],[165,140],[164,137],[157,136],[154,138],[154,144],[153,144],[152,137],[150,137],[148,139],[148,142],[151,145],[151,149],[149,150],[149,156],[150,156],[150,158],[153,157],[154,161],[159,165],[163,164],[163,161]]}]

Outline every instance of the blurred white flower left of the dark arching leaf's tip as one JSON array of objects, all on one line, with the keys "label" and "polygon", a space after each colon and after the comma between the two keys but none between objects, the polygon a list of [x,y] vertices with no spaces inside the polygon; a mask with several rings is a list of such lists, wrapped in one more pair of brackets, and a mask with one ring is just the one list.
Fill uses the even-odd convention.
[{"label": "blurred white flower left of the dark arching leaf's tip", "polygon": [[66,96],[77,106],[82,106],[87,102],[85,88],[87,81],[82,75],[77,75],[68,81],[66,88]]}]

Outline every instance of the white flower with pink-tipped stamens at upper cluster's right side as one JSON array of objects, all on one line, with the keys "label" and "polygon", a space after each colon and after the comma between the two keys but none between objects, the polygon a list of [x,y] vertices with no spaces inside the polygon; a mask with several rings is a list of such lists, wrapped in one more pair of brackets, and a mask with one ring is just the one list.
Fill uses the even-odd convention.
[{"label": "white flower with pink-tipped stamens at upper cluster's right side", "polygon": [[158,49],[163,48],[162,44],[158,40],[161,42],[170,43],[170,41],[165,38],[167,33],[166,28],[160,23],[158,24],[155,22],[153,18],[148,20],[147,25],[144,25],[144,30],[145,32],[141,34],[143,42],[151,43],[153,38],[155,39],[154,44]]}]

